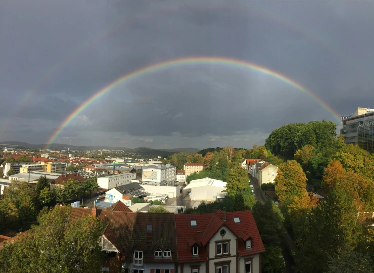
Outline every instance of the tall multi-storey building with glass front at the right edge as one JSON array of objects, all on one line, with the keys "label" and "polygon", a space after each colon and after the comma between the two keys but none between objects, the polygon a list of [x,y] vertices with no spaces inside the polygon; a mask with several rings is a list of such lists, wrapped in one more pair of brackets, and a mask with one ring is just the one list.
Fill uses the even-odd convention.
[{"label": "tall multi-storey building with glass front at the right edge", "polygon": [[358,144],[367,151],[374,150],[374,109],[357,108],[350,116],[341,117],[343,128],[340,134],[345,143]]}]

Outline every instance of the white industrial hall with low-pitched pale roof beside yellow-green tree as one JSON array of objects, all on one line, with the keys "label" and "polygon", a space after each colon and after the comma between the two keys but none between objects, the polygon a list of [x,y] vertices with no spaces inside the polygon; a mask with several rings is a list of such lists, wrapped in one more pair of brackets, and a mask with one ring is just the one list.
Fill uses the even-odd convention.
[{"label": "white industrial hall with low-pitched pale roof beside yellow-green tree", "polygon": [[183,190],[190,192],[192,201],[215,201],[226,195],[226,185],[227,183],[222,180],[206,177],[192,180]]}]

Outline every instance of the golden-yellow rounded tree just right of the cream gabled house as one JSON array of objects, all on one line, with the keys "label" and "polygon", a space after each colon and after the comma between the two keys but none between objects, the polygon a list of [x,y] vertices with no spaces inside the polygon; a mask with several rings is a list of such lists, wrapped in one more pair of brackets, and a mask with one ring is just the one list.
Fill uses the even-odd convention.
[{"label": "golden-yellow rounded tree just right of the cream gabled house", "polygon": [[306,192],[306,175],[295,160],[279,165],[274,182],[279,200],[286,204],[290,204],[296,196]]}]

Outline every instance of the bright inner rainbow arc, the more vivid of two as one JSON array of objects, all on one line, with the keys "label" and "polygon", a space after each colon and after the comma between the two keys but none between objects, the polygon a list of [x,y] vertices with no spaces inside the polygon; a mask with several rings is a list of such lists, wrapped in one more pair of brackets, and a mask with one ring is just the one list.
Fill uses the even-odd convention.
[{"label": "bright inner rainbow arc, the more vivid of two", "polygon": [[315,94],[307,90],[305,87],[301,86],[299,83],[293,81],[292,79],[288,78],[285,75],[282,75],[276,71],[270,70],[266,67],[246,62],[242,60],[237,59],[229,59],[229,58],[223,58],[223,57],[191,57],[191,58],[180,58],[180,59],[172,59],[156,64],[152,64],[143,68],[140,68],[138,70],[135,70],[129,74],[126,74],[115,81],[111,82],[110,84],[106,85],[104,88],[96,92],[94,95],[92,95],[89,99],[87,99],[85,102],[83,102],[78,108],[76,108],[70,115],[68,115],[65,120],[58,126],[58,128],[55,130],[55,132],[50,136],[47,145],[45,149],[48,149],[51,143],[55,141],[57,136],[62,132],[62,130],[70,124],[72,120],[74,120],[84,109],[86,109],[89,105],[91,105],[92,102],[99,99],[109,91],[111,91],[113,88],[115,88],[118,84],[133,79],[135,77],[151,73],[160,69],[166,69],[174,66],[181,66],[181,65],[187,65],[187,64],[223,64],[228,66],[235,66],[238,68],[245,68],[245,69],[251,69],[254,71],[261,72],[266,75],[270,75],[272,77],[275,77],[293,87],[300,90],[301,92],[309,95],[313,100],[315,100],[318,104],[320,104],[324,109],[326,109],[333,117],[334,119],[340,124],[341,119],[339,114],[337,114],[329,105],[327,105],[323,100],[319,99]]}]

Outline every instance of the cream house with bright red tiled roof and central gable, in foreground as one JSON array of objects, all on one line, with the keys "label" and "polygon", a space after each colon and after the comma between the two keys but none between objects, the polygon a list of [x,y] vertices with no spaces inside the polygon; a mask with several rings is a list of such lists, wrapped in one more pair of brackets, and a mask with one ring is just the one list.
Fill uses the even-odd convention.
[{"label": "cream house with bright red tiled roof and central gable, in foreground", "polygon": [[251,211],[177,214],[175,221],[177,272],[261,272],[265,247]]}]

